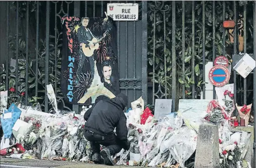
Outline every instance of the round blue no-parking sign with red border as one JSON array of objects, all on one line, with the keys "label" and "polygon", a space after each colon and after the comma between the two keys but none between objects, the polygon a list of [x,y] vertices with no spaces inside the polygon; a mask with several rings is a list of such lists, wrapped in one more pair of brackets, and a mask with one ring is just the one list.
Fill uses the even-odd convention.
[{"label": "round blue no-parking sign with red border", "polygon": [[209,81],[216,87],[226,85],[230,80],[230,71],[223,65],[215,65],[210,69]]}]

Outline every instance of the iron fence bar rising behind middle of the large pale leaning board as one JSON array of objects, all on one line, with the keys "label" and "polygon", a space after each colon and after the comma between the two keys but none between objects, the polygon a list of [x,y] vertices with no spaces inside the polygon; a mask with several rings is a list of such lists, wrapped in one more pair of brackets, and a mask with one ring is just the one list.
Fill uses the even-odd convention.
[{"label": "iron fence bar rising behind middle of the large pale leaning board", "polygon": [[[195,81],[195,1],[192,1],[192,81]],[[192,84],[192,99],[195,99],[195,84]]]}]

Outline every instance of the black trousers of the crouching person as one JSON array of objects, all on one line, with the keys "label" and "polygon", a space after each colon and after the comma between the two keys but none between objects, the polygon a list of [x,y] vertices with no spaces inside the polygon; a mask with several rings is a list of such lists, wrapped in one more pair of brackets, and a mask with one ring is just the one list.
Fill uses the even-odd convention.
[{"label": "black trousers of the crouching person", "polygon": [[122,144],[114,133],[103,136],[95,132],[85,130],[84,136],[91,144],[92,155],[100,152],[100,145],[108,148],[111,156],[117,154],[122,149]]}]

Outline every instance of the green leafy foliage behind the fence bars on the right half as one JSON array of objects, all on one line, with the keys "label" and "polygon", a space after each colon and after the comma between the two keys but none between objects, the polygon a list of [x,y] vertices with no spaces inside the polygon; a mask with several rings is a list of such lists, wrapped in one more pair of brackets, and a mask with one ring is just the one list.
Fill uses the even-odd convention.
[{"label": "green leafy foliage behind the fence bars on the right half", "polygon": [[[165,8],[165,5],[169,6],[169,9],[165,12],[158,10],[155,13],[154,22],[154,11],[150,10],[148,12],[148,62],[149,62],[149,76],[151,81],[159,83],[162,87],[167,87],[168,93],[171,95],[171,71],[172,71],[172,15],[171,15],[171,1],[149,1],[150,6],[161,6]],[[205,1],[205,63],[213,60],[213,47],[215,48],[215,56],[223,55],[223,48],[225,47],[226,53],[224,56],[228,57],[231,62],[232,52],[227,49],[233,50],[233,44],[230,42],[230,37],[227,29],[223,29],[223,3],[222,1],[216,1],[216,15],[215,15],[215,29],[216,32],[213,35],[213,15],[212,15],[212,1]],[[185,21],[184,21],[184,41],[185,41],[185,52],[184,52],[184,72],[183,72],[183,52],[182,52],[182,2],[176,1],[176,31],[175,31],[175,55],[176,55],[176,74],[175,78],[178,83],[177,88],[185,86],[186,98],[198,99],[200,97],[201,91],[203,90],[205,81],[203,81],[203,1],[195,1],[195,48],[194,56],[192,55],[192,10],[191,2],[185,3]],[[233,19],[233,1],[225,1],[225,19]],[[241,8],[241,7],[240,7]],[[243,9],[239,8],[239,12],[243,13]],[[249,9],[248,9],[249,11]],[[242,15],[240,16],[241,19]],[[247,14],[247,20],[249,24],[247,25],[247,34],[250,35],[252,39],[252,19],[251,15]],[[165,27],[164,27],[165,22]],[[154,32],[155,25],[155,32]],[[166,36],[164,37],[164,31]],[[154,38],[155,36],[155,38]],[[213,44],[213,36],[215,36],[215,43]],[[223,36],[225,36],[225,46],[223,46]],[[154,46],[155,40],[155,46]],[[249,42],[247,42],[248,44]],[[164,50],[164,44],[166,44],[166,50]],[[155,59],[153,59],[155,49]],[[164,57],[166,59],[166,75],[167,75],[167,86],[165,86],[165,74],[164,74]],[[192,58],[194,57],[194,69],[192,72]],[[153,62],[155,62],[155,79],[153,80]],[[192,80],[192,73],[195,73],[195,80]],[[183,75],[185,80],[183,80]],[[195,84],[195,97],[192,98],[192,85]],[[158,86],[156,86],[158,87]],[[178,93],[179,97],[182,96],[182,90]]]}]

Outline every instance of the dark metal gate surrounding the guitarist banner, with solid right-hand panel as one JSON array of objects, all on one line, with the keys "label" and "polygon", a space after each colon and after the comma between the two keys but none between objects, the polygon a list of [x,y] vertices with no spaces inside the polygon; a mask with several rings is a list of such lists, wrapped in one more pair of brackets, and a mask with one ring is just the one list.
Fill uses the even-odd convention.
[{"label": "dark metal gate surrounding the guitarist banner, with solid right-hand panel", "polygon": [[[59,75],[62,48],[62,17],[103,17],[107,3],[119,1],[10,1],[6,2],[7,15],[7,51],[6,89],[17,88],[14,95],[25,94],[25,104],[32,96],[43,97],[44,110],[50,111],[46,96],[46,85],[52,84],[58,96],[59,108],[79,111],[79,106],[65,104],[60,91]],[[118,21],[117,44],[120,74],[120,89],[126,93],[129,101],[140,96],[147,97],[147,2],[139,3],[138,21]],[[15,25],[10,26],[10,25]],[[21,26],[20,26],[21,25]],[[19,36],[16,36],[19,35]],[[13,52],[10,52],[13,51]],[[16,60],[14,72],[10,71],[9,62]],[[27,63],[26,63],[27,62]],[[20,87],[18,89],[18,87]]]}]

